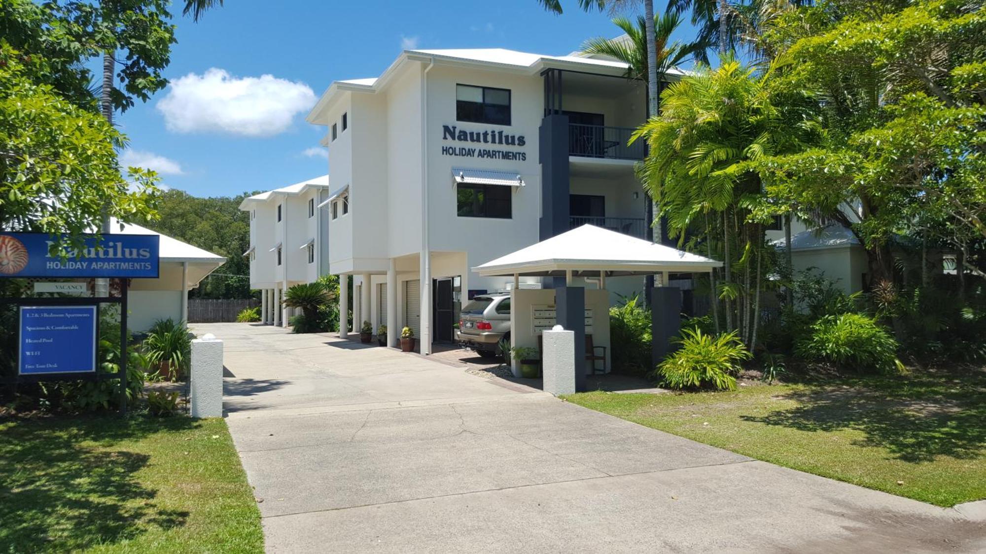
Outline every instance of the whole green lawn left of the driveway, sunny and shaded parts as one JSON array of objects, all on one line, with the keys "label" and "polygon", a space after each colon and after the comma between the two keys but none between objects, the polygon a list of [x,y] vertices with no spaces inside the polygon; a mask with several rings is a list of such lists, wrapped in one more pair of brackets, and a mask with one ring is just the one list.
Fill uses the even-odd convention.
[{"label": "whole green lawn left of the driveway, sunny and shaded parts", "polygon": [[222,419],[0,420],[0,552],[261,552]]}]

